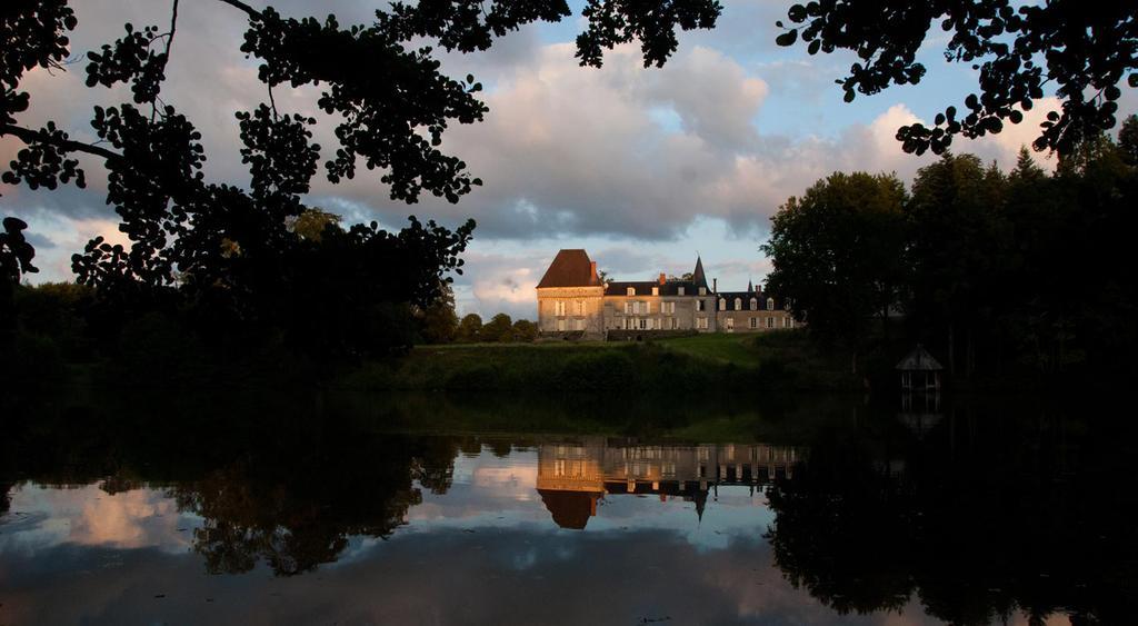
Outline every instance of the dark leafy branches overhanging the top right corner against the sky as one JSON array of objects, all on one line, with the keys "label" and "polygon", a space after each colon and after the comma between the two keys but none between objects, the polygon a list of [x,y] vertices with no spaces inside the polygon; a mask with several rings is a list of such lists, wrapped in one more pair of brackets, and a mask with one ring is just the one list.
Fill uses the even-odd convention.
[{"label": "dark leafy branches overhanging the top right corner against the sky", "polygon": [[[1138,10],[1128,2],[1052,0],[1014,6],[1011,0],[827,0],[794,5],[794,25],[781,46],[801,36],[815,55],[844,49],[859,60],[836,82],[846,101],[873,94],[890,84],[916,84],[925,74],[916,55],[933,25],[951,33],[945,49],[949,61],[980,71],[980,90],[938,114],[932,129],[901,126],[897,139],[907,153],[941,154],[953,137],[998,133],[1005,122],[1019,124],[1032,100],[1056,84],[1062,113],[1048,114],[1034,141],[1037,150],[1066,153],[1103,130],[1112,129],[1123,79],[1138,87]],[[800,25],[800,26],[799,26]],[[1129,75],[1128,75],[1129,74]]]}]

